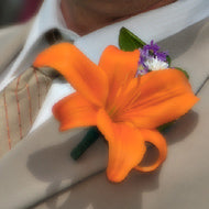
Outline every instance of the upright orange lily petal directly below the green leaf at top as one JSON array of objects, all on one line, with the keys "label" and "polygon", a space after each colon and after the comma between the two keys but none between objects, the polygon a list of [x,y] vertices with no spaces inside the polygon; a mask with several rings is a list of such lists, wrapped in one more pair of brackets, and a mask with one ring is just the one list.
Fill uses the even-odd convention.
[{"label": "upright orange lily petal directly below the green leaf at top", "polygon": [[109,100],[112,102],[118,90],[127,86],[135,77],[140,59],[140,51],[123,52],[116,46],[108,46],[100,58],[99,66],[109,79]]}]

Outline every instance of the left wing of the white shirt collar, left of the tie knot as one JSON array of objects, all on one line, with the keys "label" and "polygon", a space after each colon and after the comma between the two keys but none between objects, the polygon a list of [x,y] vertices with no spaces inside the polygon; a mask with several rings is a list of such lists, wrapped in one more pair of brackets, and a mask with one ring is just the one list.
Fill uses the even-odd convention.
[{"label": "left wing of the white shirt collar, left of the tie knot", "polygon": [[58,29],[65,40],[75,41],[79,37],[78,34],[66,28],[64,18],[61,12],[61,0],[44,0],[42,7],[33,20],[32,28],[28,35],[26,42],[12,64],[9,72],[7,72],[0,89],[3,89],[12,79],[14,79],[24,69],[19,69],[25,56],[31,52],[37,41],[51,29]]}]

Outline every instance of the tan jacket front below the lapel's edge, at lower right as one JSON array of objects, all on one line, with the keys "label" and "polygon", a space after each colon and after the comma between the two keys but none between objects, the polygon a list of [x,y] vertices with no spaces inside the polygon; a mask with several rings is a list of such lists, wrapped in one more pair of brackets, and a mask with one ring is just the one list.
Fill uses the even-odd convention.
[{"label": "tan jacket front below the lapel's edge, at lower right", "polygon": [[207,209],[208,94],[209,81],[199,94],[201,102],[165,134],[168,157],[160,170],[132,172],[120,185],[101,173],[33,209]]}]

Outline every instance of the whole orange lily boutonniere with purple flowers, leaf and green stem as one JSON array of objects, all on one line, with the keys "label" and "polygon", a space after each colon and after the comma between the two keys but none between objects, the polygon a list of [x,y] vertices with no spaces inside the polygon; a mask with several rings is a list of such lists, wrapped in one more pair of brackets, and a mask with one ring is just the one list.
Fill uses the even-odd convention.
[{"label": "whole orange lily boutonniere with purple flowers, leaf and green stem", "polygon": [[[156,169],[167,154],[160,130],[199,100],[186,72],[170,67],[170,57],[153,41],[145,44],[122,28],[119,45],[120,50],[108,46],[98,65],[69,43],[51,46],[34,62],[35,67],[55,68],[76,89],[54,106],[53,113],[61,131],[91,127],[72,152],[75,160],[103,135],[111,182],[123,180],[133,168]],[[146,142],[158,150],[158,158],[143,166]]]}]

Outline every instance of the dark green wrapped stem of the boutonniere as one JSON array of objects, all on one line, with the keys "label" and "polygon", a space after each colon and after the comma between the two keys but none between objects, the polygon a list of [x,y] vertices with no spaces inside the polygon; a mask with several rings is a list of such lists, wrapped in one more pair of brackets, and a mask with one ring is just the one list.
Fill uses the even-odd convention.
[{"label": "dark green wrapped stem of the boutonniere", "polygon": [[90,128],[81,142],[72,151],[72,158],[75,161],[78,160],[85,153],[85,151],[99,139],[100,135],[101,133],[97,127]]}]

